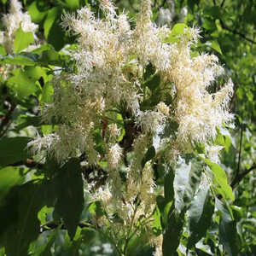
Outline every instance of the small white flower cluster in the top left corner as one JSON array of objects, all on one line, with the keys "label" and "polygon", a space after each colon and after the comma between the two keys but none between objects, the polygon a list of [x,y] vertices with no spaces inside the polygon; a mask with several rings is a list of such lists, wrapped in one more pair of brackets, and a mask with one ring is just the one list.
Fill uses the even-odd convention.
[{"label": "small white flower cluster in the top left corner", "polygon": [[24,32],[32,32],[33,38],[36,37],[38,25],[34,24],[30,15],[22,12],[21,3],[18,0],[9,1],[9,14],[3,15],[4,32],[0,32],[0,44],[8,54],[14,53],[15,32],[21,27]]}]

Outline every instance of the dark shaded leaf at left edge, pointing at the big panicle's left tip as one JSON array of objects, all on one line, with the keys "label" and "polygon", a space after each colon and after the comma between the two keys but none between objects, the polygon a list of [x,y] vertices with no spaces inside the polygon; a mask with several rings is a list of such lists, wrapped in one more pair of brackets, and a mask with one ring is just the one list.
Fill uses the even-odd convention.
[{"label": "dark shaded leaf at left edge, pointing at the big panicle's left tip", "polygon": [[26,148],[30,137],[4,137],[0,140],[0,166],[8,166],[26,160],[31,153]]}]

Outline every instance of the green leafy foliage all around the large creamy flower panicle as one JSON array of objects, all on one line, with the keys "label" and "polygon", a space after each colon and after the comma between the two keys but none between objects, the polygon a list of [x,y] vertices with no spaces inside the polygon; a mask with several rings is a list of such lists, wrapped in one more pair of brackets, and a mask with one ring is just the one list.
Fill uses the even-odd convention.
[{"label": "green leafy foliage all around the large creamy flower panicle", "polygon": [[[139,9],[138,1],[115,3],[120,11],[128,9],[131,18]],[[100,204],[89,204],[84,198],[83,180],[89,174],[79,166],[80,160],[71,159],[58,166],[53,160],[42,163],[26,150],[37,132],[48,134],[53,129],[40,122],[38,113],[42,104],[51,102],[54,70],[73,68],[73,61],[61,49],[73,45],[75,37],[61,29],[61,15],[85,5],[97,11],[98,4],[86,0],[24,0],[23,7],[38,24],[38,38],[44,44],[32,52],[22,51],[33,38],[19,29],[15,54],[6,55],[0,45],[0,255],[119,253],[108,234],[94,223],[103,212]],[[155,0],[153,7],[154,20],[160,25],[201,27],[201,43],[195,50],[218,55],[235,84],[230,111],[236,114],[236,128],[219,131],[215,141],[224,146],[220,166],[187,155],[188,161],[170,172],[175,177],[164,176],[168,166],[155,167],[159,177],[156,182],[165,187],[154,212],[155,234],[164,234],[164,255],[256,255],[256,3]],[[1,0],[0,13],[8,10],[9,1]],[[6,65],[16,68],[4,80]],[[152,149],[144,161],[153,158]],[[214,174],[215,190],[205,186],[195,195],[196,180],[190,173],[200,175],[205,166]],[[175,189],[179,189],[175,194],[179,197],[178,215],[173,211]],[[126,250],[127,255],[152,252],[143,237],[131,241]]]}]

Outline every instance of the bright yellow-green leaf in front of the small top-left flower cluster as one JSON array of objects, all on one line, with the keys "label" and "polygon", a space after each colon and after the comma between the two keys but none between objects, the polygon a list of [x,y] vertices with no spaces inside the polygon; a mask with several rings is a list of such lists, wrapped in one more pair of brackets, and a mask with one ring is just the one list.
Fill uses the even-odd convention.
[{"label": "bright yellow-green leaf in front of the small top-left flower cluster", "polygon": [[20,26],[20,28],[15,32],[15,53],[19,53],[22,49],[26,49],[28,45],[33,42],[34,38],[32,32],[24,32]]}]

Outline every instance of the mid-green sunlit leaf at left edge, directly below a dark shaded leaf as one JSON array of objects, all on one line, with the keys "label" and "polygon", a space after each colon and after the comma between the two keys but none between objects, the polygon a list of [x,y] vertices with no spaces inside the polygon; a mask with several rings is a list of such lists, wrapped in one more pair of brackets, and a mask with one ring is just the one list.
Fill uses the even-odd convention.
[{"label": "mid-green sunlit leaf at left edge, directly below a dark shaded leaf", "polygon": [[7,166],[0,169],[0,202],[12,187],[20,184],[22,181],[23,177],[20,176],[19,167]]}]

